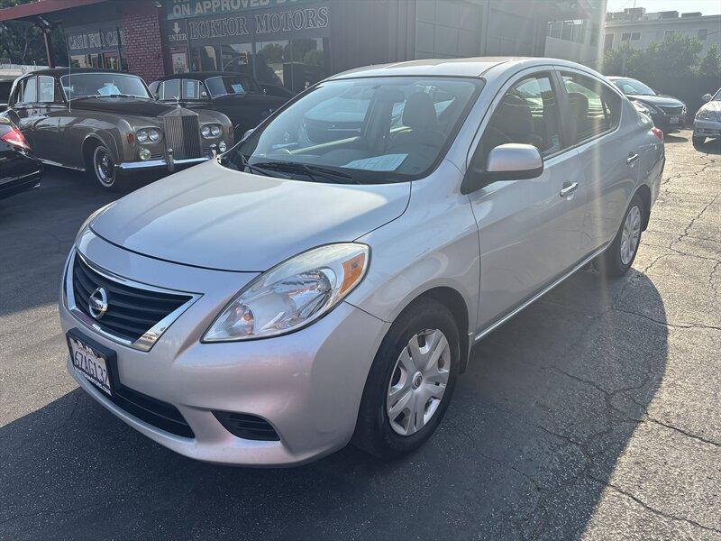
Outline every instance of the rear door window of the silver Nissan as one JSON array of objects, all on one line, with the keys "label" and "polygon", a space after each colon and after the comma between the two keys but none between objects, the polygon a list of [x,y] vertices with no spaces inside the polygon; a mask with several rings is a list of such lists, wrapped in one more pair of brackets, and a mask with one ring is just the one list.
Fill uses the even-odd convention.
[{"label": "rear door window of the silver Nissan", "polygon": [[621,97],[595,78],[562,73],[569,96],[575,141],[616,129],[621,119]]}]

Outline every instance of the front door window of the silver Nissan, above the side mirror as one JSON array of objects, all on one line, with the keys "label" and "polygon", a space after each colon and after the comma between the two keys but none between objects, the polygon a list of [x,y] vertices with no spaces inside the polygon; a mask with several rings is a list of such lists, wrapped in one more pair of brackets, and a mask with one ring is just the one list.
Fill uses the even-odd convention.
[{"label": "front door window of the silver Nissan, above the side mirror", "polygon": [[508,89],[483,133],[483,160],[508,142],[532,144],[543,156],[561,150],[558,99],[550,75],[523,78]]}]

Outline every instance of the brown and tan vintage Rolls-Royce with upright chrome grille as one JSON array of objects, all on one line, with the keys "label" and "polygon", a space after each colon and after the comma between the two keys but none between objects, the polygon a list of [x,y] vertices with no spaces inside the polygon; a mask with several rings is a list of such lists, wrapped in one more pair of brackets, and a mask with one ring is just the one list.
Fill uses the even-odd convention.
[{"label": "brown and tan vintage Rolls-Royce with upright chrome grille", "polygon": [[87,171],[116,188],[140,170],[171,172],[233,142],[217,111],[158,103],[134,75],[98,69],[42,69],[18,78],[3,113],[45,163]]}]

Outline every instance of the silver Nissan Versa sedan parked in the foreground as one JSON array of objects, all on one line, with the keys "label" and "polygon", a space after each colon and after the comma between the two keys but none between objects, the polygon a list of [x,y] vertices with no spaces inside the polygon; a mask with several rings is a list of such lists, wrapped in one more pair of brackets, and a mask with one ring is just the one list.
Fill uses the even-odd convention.
[{"label": "silver Nissan Versa sedan parked in the foreground", "polygon": [[61,288],[68,371],[204,461],[404,454],[479,339],[589,262],[628,271],[663,164],[648,116],[570,62],[336,75],[87,218]]}]

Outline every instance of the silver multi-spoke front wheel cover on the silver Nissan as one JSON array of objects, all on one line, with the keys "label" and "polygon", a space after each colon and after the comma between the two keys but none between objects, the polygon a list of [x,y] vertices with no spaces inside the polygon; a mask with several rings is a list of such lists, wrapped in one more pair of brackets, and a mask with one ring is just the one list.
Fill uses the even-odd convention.
[{"label": "silver multi-spoke front wheel cover on the silver Nissan", "polygon": [[451,347],[443,332],[428,329],[403,348],[388,383],[386,412],[400,436],[428,424],[441,405],[451,370]]}]

